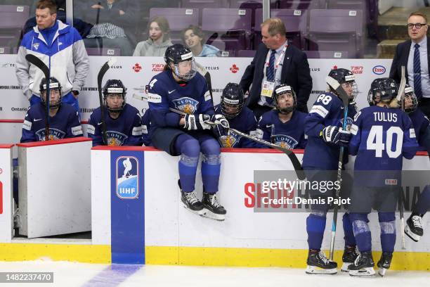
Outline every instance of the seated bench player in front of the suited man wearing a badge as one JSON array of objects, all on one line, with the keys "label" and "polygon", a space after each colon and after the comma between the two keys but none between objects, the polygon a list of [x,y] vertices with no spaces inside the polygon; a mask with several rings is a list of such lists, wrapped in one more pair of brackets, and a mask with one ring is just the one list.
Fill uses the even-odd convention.
[{"label": "seated bench player in front of the suited man wearing a badge", "polygon": [[296,110],[296,93],[287,84],[280,84],[273,92],[273,103],[276,110],[263,113],[259,120],[257,136],[282,148],[305,148],[306,114]]}]

